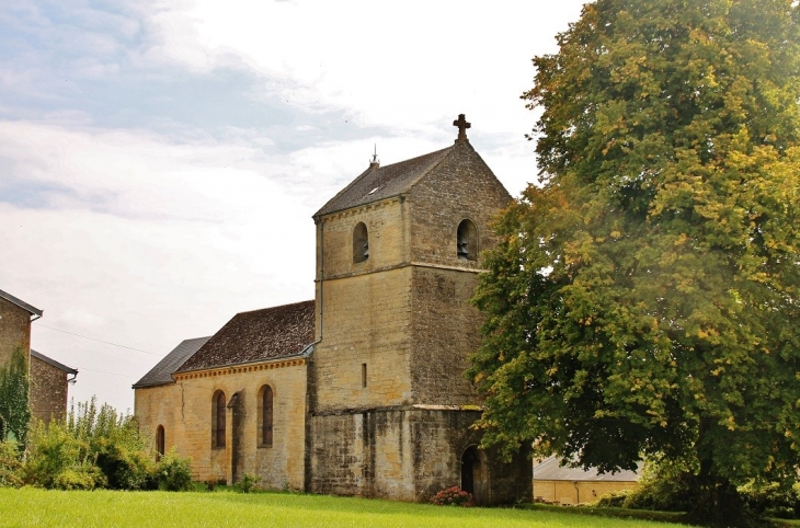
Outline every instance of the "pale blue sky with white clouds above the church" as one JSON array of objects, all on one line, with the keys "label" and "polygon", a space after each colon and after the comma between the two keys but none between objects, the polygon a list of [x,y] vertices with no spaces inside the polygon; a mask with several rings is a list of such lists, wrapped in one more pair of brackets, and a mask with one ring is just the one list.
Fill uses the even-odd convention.
[{"label": "pale blue sky with white clouds above the church", "polygon": [[0,289],[70,397],[130,386],[241,311],[313,298],[311,216],[361,174],[471,145],[536,180],[530,59],[583,0],[0,4]]}]

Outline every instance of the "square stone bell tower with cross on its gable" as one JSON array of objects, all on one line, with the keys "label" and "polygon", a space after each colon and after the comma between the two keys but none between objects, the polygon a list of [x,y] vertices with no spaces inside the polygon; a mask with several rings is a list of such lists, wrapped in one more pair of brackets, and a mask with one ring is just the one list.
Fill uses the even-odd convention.
[{"label": "square stone bell tower with cross on its gable", "polygon": [[317,345],[306,489],[426,500],[460,483],[481,504],[529,496],[524,454],[477,449],[462,372],[480,344],[469,305],[490,222],[511,196],[454,123],[454,146],[377,161],[316,215]]}]

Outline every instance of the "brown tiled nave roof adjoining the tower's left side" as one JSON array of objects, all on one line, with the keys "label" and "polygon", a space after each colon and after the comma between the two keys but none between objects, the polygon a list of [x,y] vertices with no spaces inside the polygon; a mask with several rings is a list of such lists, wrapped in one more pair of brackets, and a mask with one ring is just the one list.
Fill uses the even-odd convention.
[{"label": "brown tiled nave roof adjoining the tower's left side", "polygon": [[313,323],[312,300],[238,313],[176,371],[297,355],[313,342]]}]

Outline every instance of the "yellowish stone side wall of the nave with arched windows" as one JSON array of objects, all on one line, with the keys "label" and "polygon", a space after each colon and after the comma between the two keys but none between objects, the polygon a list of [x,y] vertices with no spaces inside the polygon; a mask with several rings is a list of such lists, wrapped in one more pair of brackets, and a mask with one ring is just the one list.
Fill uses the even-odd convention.
[{"label": "yellowish stone side wall of the nave with arched windows", "polygon": [[[244,473],[266,487],[304,489],[306,445],[306,363],[276,360],[176,376],[173,384],[136,389],[135,413],[151,438],[164,427],[164,445],[192,458],[199,481],[233,482]],[[273,444],[261,446],[258,431],[260,389],[273,390]],[[226,410],[226,446],[212,447],[212,397],[217,390],[230,403]]]}]

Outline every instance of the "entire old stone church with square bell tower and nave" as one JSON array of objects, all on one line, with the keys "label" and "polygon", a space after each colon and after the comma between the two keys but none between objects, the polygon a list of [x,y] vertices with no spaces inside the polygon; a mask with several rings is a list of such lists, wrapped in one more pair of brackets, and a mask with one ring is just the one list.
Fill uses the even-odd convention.
[{"label": "entire old stone church with square bell tower and nave", "polygon": [[477,504],[530,498],[527,452],[504,462],[471,428],[464,377],[482,315],[469,303],[492,218],[512,198],[467,139],[380,167],[324,204],[313,300],[238,313],[186,340],[137,383],[135,413],[194,478]]}]

